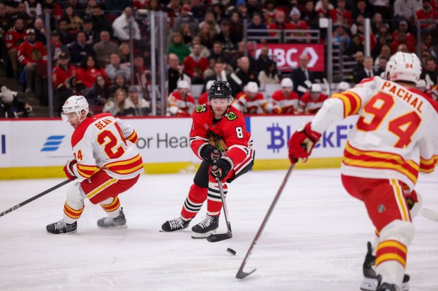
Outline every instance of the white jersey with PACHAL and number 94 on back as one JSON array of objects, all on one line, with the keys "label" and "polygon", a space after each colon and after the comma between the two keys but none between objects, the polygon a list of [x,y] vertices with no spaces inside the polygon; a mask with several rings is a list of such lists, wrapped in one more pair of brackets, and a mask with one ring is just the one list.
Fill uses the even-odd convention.
[{"label": "white jersey with PACHAL and number 94 on back", "polygon": [[324,102],[312,130],[324,132],[336,120],[359,115],[348,134],[341,173],[396,179],[413,190],[418,172],[434,171],[438,161],[438,104],[417,89],[379,77]]}]

